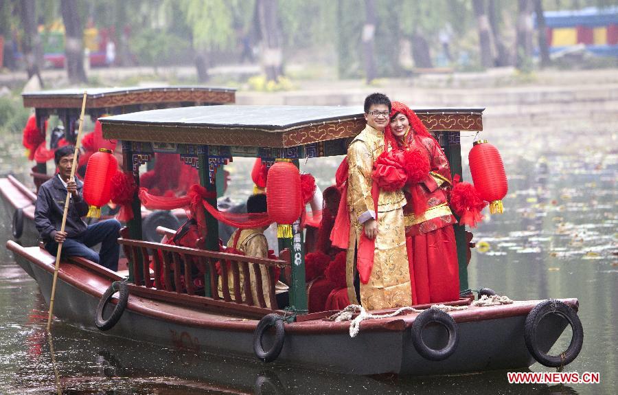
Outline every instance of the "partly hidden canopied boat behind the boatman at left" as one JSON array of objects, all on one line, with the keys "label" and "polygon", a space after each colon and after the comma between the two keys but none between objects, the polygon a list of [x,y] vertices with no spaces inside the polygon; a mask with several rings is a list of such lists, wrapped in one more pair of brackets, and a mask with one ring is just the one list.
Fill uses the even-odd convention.
[{"label": "partly hidden canopied boat behind the boatman at left", "polygon": [[[23,93],[23,105],[34,107],[36,124],[43,129],[50,115],[57,115],[65,128],[65,139],[76,140],[75,121],[80,117],[84,89],[60,89]],[[152,109],[181,106],[232,104],[236,101],[235,89],[214,87],[125,87],[88,89],[86,108],[93,120],[104,114],[122,114]],[[49,179],[46,163],[36,163],[32,168],[34,185]],[[34,227],[34,201],[36,194],[21,181],[8,175],[0,178],[0,196],[8,218],[12,218],[14,240],[25,245],[36,245],[38,232]],[[146,213],[148,214],[148,213]],[[163,223],[159,224],[163,225]],[[156,225],[155,225],[156,227]]]}]

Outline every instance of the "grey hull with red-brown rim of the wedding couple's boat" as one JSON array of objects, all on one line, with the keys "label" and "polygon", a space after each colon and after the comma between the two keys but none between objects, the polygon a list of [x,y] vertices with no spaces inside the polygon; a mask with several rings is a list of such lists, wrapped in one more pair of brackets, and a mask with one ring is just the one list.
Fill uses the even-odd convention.
[{"label": "grey hull with red-brown rim of the wedding couple's boat", "polygon": [[[7,243],[16,261],[38,283],[49,304],[54,258],[36,247],[24,248]],[[54,314],[71,324],[97,330],[95,311],[102,293],[114,280],[115,273],[92,271],[72,262],[62,262],[56,286]],[[411,324],[415,315],[375,319],[361,324],[357,337],[350,337],[349,323],[322,319],[286,324],[284,347],[277,363],[300,365],[317,370],[347,374],[431,375],[481,372],[485,370],[527,368],[535,361],[524,341],[527,312],[540,301],[516,302],[516,305],[492,306],[451,313],[459,331],[459,346],[444,361],[428,361],[412,343]],[[577,300],[564,300],[577,308]],[[163,347],[185,348],[227,357],[253,357],[253,330],[256,319],[166,305],[135,295],[118,323],[106,334],[147,341]],[[547,350],[566,327],[556,319],[545,325]],[[425,336],[426,335],[426,336]],[[439,328],[426,330],[424,338],[442,341]],[[264,340],[268,346],[268,339]]]}]

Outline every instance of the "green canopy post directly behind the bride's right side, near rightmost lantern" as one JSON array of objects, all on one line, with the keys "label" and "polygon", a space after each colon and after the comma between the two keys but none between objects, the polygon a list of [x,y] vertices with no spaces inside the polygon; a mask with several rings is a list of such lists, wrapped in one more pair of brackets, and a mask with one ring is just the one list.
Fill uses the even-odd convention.
[{"label": "green canopy post directly behind the bride's right side, near rightmost lantern", "polygon": [[[450,163],[450,176],[460,174],[463,179],[461,167],[461,144],[459,142],[459,131],[441,132],[446,137],[444,154]],[[463,180],[461,180],[463,181]],[[459,218],[457,218],[459,221]],[[464,291],[468,286],[468,241],[466,240],[466,227],[455,224],[455,242],[457,244],[457,262],[459,263],[459,291]]]}]

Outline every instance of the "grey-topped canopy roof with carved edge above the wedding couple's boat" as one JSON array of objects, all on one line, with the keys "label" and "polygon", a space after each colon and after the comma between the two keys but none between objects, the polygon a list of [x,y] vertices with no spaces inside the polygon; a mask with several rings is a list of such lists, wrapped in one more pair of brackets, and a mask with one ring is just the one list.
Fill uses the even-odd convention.
[{"label": "grey-topped canopy roof with carved edge above the wedding couple's boat", "polygon": [[[414,109],[430,131],[481,131],[484,109]],[[365,128],[361,106],[195,106],[99,119],[106,139],[290,148],[348,139]]]}]

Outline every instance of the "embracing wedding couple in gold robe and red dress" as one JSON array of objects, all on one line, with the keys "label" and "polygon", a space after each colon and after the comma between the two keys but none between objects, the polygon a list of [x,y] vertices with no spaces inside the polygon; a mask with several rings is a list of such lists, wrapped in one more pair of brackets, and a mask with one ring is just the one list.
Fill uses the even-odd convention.
[{"label": "embracing wedding couple in gold robe and red dress", "polygon": [[457,300],[455,217],[442,149],[408,106],[382,93],[365,99],[365,120],[338,170],[347,170],[349,237],[341,238],[347,226],[336,224],[332,233],[339,247],[347,239],[349,302],[360,298],[367,310],[379,310]]}]

